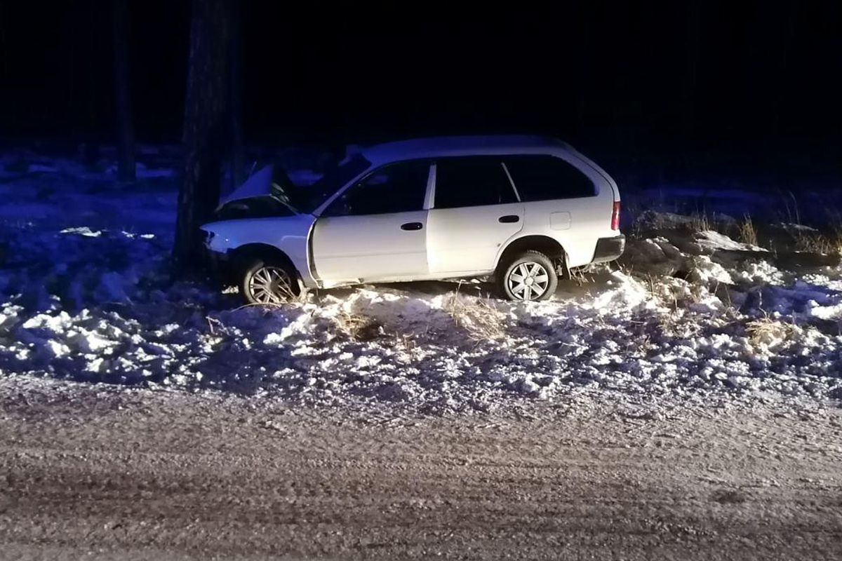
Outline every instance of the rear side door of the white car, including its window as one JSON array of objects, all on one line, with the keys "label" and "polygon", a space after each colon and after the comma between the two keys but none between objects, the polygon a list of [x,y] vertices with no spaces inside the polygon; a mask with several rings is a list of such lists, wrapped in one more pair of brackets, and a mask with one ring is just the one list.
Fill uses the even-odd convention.
[{"label": "rear side door of the white car, including its window", "polygon": [[440,158],[427,223],[430,273],[490,272],[500,246],[523,227],[500,156]]}]

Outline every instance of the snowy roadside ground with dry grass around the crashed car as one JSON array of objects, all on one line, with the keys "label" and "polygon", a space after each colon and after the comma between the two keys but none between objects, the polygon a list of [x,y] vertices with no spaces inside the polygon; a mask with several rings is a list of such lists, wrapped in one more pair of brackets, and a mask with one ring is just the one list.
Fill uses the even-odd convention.
[{"label": "snowy roadside ground with dry grass around the crashed car", "polygon": [[[744,244],[727,216],[709,230],[663,212],[626,220],[623,260],[546,303],[409,283],[241,307],[237,294],[170,281],[176,156],[148,148],[134,188],[108,165],[28,159],[13,172],[0,158],[6,377],[418,412],[842,400],[838,259]],[[797,227],[773,230],[780,240]]]}]

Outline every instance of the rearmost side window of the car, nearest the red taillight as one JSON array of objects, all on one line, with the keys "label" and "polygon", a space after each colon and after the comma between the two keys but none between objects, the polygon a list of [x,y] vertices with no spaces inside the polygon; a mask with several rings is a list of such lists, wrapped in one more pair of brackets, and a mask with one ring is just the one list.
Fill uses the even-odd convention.
[{"label": "rearmost side window of the car, nearest the red taillight", "polygon": [[594,182],[572,164],[555,156],[506,156],[504,158],[520,200],[593,197]]}]

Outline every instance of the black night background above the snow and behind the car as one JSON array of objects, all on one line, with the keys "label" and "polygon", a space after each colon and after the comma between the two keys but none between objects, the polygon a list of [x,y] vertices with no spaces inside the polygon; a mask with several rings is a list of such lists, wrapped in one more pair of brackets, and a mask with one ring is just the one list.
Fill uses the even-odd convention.
[{"label": "black night background above the snow and behind the car", "polygon": [[[537,132],[628,182],[838,183],[840,4],[248,1],[244,132]],[[186,0],[131,4],[141,142],[180,138],[189,14]],[[114,142],[110,25],[99,0],[0,0],[3,144]]]}]

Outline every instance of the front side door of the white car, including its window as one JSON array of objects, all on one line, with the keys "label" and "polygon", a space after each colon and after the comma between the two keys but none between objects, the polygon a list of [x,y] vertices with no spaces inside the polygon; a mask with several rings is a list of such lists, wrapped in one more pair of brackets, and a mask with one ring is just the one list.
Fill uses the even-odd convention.
[{"label": "front side door of the white car, including its window", "polygon": [[429,161],[381,167],[346,189],[313,227],[317,278],[326,285],[424,276]]}]

